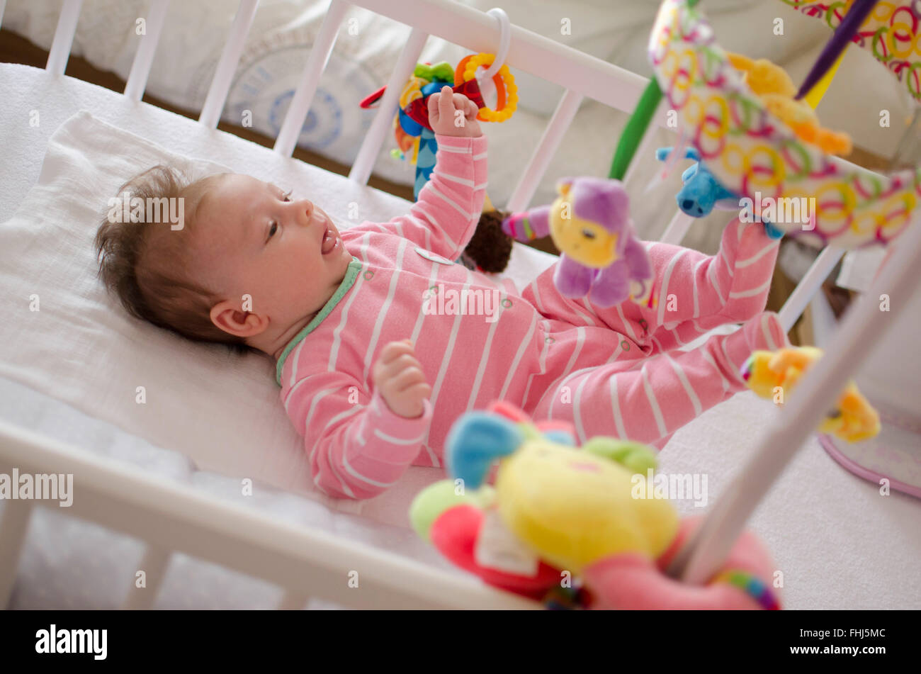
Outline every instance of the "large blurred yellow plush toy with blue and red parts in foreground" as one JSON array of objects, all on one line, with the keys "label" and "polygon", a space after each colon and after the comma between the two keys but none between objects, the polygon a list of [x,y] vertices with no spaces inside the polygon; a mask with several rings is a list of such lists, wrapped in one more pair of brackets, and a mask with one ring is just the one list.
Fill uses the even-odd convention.
[{"label": "large blurred yellow plush toy with blue and red parts in foreground", "polygon": [[[453,479],[410,509],[414,529],[453,564],[554,608],[780,608],[766,582],[774,565],[749,533],[705,587],[663,573],[698,521],[678,517],[660,483],[648,482],[651,449],[600,436],[579,448],[569,424],[534,424],[505,402],[489,410],[454,424]],[[496,460],[493,488],[484,482]]]}]

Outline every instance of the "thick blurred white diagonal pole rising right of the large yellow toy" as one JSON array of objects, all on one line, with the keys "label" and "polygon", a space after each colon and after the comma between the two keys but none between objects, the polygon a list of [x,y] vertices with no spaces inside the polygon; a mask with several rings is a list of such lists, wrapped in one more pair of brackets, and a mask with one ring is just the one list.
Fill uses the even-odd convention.
[{"label": "thick blurred white diagonal pole rising right of the large yellow toy", "polygon": [[[696,535],[669,567],[672,577],[702,584],[724,563],[745,522],[764,494],[818,426],[824,413],[891,329],[907,299],[921,292],[921,215],[895,243],[892,260],[869,290],[847,310],[834,339],[818,363],[799,382],[781,419],[762,436],[751,459],[721,496]],[[888,294],[890,310],[880,314],[879,297]],[[882,318],[880,318],[882,316]]]}]

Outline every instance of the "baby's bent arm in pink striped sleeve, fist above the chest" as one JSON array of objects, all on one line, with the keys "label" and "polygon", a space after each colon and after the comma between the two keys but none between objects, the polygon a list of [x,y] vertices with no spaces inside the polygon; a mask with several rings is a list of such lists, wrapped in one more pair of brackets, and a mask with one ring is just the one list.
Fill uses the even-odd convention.
[{"label": "baby's bent arm in pink striped sleeve, fist above the chest", "polygon": [[432,420],[412,346],[388,343],[374,365],[373,394],[342,372],[299,380],[286,408],[303,429],[313,482],[335,498],[370,498],[397,482],[422,450]]}]

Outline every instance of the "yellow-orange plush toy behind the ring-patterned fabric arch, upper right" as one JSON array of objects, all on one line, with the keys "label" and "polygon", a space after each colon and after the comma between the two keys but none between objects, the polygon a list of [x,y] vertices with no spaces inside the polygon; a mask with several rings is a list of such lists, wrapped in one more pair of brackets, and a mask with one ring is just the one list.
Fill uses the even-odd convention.
[{"label": "yellow-orange plush toy behind the ring-patterned fabric arch, upper right", "polygon": [[834,155],[851,152],[851,137],[822,127],[815,110],[805,99],[796,100],[797,87],[787,71],[767,59],[752,60],[738,53],[727,54],[729,63],[742,73],[743,81],[778,120],[787,124],[806,143],[818,145]]}]

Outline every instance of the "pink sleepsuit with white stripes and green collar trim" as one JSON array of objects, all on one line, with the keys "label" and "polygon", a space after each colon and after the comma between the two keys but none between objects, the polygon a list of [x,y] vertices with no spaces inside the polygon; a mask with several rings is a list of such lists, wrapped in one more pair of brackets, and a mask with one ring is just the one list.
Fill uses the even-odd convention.
[{"label": "pink sleepsuit with white stripes and green collar trim", "polygon": [[[519,292],[454,263],[482,208],[486,139],[437,142],[436,168],[408,215],[343,230],[353,261],[342,285],[278,359],[281,400],[327,494],[368,498],[411,464],[442,465],[450,425],[495,399],[572,422],[579,442],[621,436],[661,448],[744,389],[739,368],[753,350],[787,345],[763,311],[778,242],[760,224],[730,222],[712,257],[647,242],[655,308],[566,299],[553,266]],[[727,322],[743,325],[677,350]],[[371,382],[383,346],[405,338],[432,387],[416,419],[392,413]]]}]

